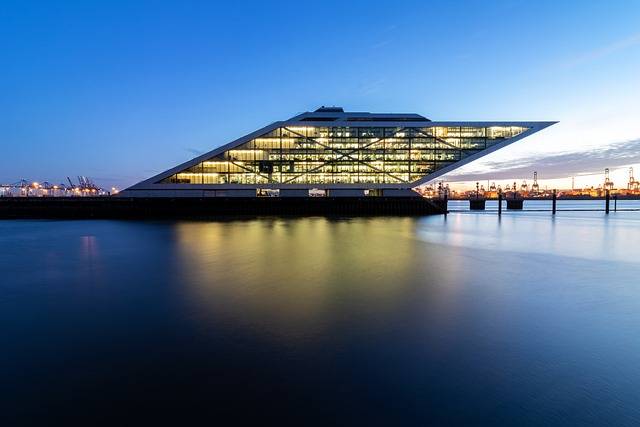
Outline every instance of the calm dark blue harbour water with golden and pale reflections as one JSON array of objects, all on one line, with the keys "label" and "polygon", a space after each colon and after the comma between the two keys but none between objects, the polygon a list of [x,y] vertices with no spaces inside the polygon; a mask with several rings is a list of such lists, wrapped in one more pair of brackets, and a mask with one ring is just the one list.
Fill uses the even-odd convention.
[{"label": "calm dark blue harbour water with golden and pale reflections", "polygon": [[640,423],[640,212],[0,221],[2,425]]}]

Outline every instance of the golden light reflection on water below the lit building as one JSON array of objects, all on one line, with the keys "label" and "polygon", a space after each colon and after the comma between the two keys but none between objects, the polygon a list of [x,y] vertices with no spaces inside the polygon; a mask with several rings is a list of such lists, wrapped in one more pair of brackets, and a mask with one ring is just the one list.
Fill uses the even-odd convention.
[{"label": "golden light reflection on water below the lit building", "polygon": [[179,274],[196,316],[288,338],[325,333],[406,303],[424,244],[407,238],[415,227],[410,218],[180,223]]}]

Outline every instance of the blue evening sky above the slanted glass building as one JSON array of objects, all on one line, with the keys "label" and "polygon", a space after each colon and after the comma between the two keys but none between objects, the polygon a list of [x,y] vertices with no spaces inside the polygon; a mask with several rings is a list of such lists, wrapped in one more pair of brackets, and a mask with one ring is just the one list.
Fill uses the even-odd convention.
[{"label": "blue evening sky above the slanted glass building", "polygon": [[610,146],[640,163],[635,1],[5,0],[0,77],[0,182],[122,188],[320,105],[560,121],[465,179]]}]

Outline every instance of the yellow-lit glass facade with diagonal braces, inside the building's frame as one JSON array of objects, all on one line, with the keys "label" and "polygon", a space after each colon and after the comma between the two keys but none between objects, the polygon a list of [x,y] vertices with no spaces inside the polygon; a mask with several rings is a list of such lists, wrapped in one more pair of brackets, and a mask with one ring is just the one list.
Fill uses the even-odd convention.
[{"label": "yellow-lit glass facade with diagonal braces, inside the building's frame", "polygon": [[411,183],[527,129],[520,126],[287,126],[160,183]]}]

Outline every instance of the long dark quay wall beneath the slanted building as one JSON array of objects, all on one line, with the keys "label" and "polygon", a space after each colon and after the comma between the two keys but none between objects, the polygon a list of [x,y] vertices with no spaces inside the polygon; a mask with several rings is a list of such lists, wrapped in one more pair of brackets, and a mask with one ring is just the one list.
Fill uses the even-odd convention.
[{"label": "long dark quay wall beneath the slanted building", "polygon": [[6,197],[0,219],[210,219],[229,215],[437,215],[421,197]]}]

